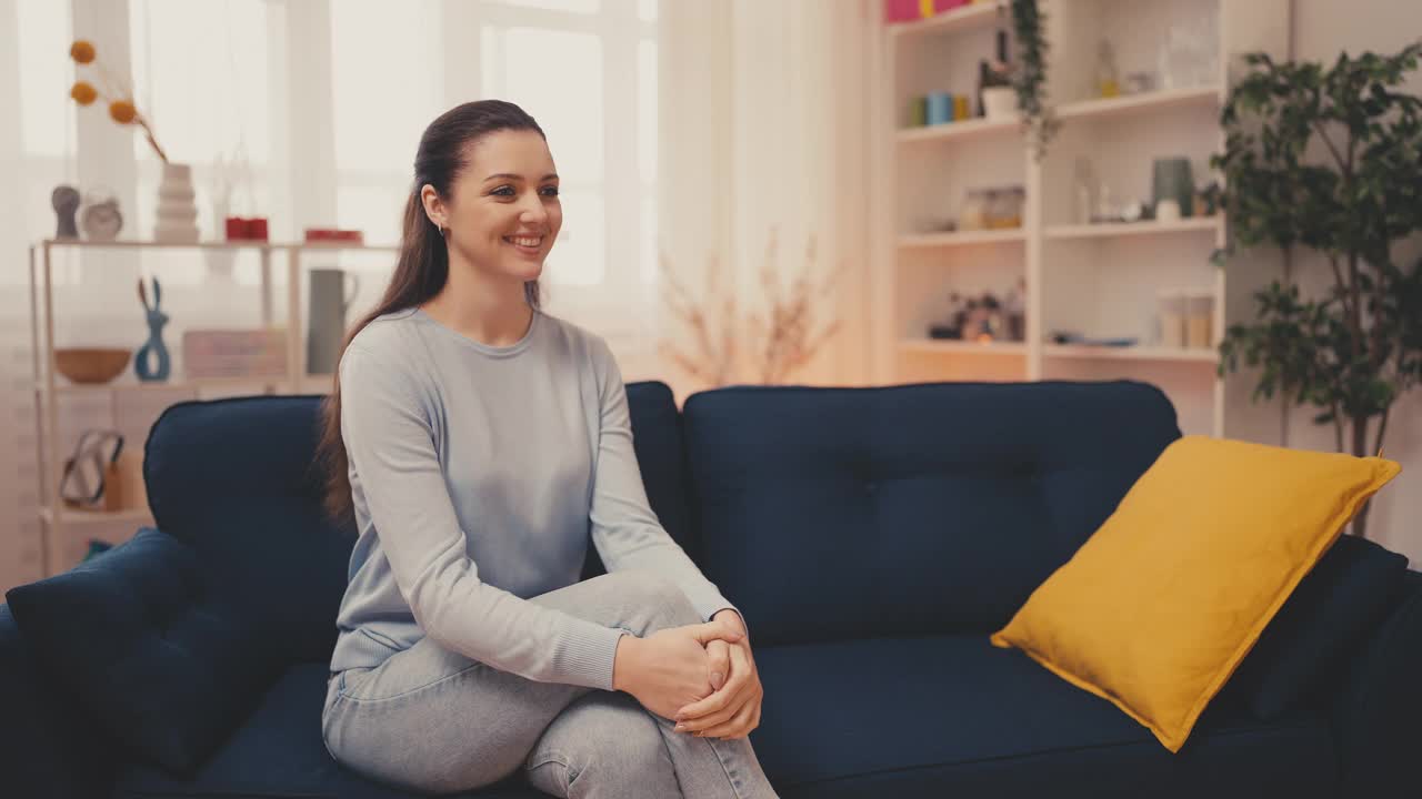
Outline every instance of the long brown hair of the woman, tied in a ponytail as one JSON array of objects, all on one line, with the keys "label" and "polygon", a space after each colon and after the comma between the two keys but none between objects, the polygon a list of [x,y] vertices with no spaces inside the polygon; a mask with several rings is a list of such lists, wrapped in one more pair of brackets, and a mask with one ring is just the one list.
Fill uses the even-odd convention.
[{"label": "long brown hair of the woman, tied in a ponytail", "polygon": [[[468,148],[498,131],[536,131],[545,139],[543,128],[518,105],[502,100],[479,100],[456,105],[439,115],[419,136],[415,152],[415,183],[405,200],[405,219],[400,235],[400,260],[395,274],[385,287],[385,296],[375,310],[365,314],[346,334],[341,354],[356,334],[375,317],[412,309],[432,300],[449,277],[449,250],[441,230],[425,213],[419,198],[425,183],[447,202],[449,189],[466,165]],[[539,284],[523,284],[523,296],[533,309],[539,307]],[[337,361],[338,364],[340,361]],[[321,405],[321,439],[316,449],[317,463],[326,469],[326,512],[341,525],[351,519],[350,461],[341,438],[341,380],[336,368],[334,385]]]}]

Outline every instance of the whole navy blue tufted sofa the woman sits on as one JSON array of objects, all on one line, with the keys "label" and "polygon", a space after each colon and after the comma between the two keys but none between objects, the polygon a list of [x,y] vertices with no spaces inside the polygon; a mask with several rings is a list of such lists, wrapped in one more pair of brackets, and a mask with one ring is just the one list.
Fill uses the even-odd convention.
[{"label": "whole navy blue tufted sofa the woman sits on", "polygon": [[[1418,795],[1415,572],[1305,702],[1260,721],[1226,690],[1179,755],[988,644],[1180,435],[1153,387],[737,387],[681,412],[627,391],[654,510],[749,623],[751,741],[782,796]],[[320,512],[319,402],[169,408],[156,529],[10,593],[0,795],[404,796],[321,744],[353,539]],[[471,796],[540,795],[513,775]]]}]

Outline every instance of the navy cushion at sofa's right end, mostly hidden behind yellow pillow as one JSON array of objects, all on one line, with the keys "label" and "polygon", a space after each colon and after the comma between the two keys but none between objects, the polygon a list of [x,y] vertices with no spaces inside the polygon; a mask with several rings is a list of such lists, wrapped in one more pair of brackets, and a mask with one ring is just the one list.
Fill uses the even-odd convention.
[{"label": "navy cushion at sofa's right end, mostly hidden behind yellow pillow", "polygon": [[1231,678],[1261,719],[1298,707],[1392,607],[1408,559],[1342,536],[1294,590]]}]

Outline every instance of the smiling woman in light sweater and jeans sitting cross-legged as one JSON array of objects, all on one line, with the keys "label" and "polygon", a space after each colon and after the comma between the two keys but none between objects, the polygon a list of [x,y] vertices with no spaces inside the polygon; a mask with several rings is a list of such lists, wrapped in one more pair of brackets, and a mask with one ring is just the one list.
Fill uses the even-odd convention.
[{"label": "smiling woman in light sweater and jeans sitting cross-legged", "polygon": [[[647,505],[607,344],[539,310],[562,215],[516,105],[421,136],[326,407],[327,503],[358,532],[326,746],[429,792],[522,768],[555,796],[775,796],[744,620]],[[577,581],[589,532],[609,573]]]}]

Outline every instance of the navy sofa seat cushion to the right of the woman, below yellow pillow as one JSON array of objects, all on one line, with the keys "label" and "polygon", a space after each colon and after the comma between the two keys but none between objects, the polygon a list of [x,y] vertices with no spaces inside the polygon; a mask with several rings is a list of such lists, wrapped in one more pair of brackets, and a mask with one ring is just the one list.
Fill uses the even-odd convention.
[{"label": "navy sofa seat cushion to the right of the woman, below yellow pillow", "polygon": [[762,647],[751,742],[786,799],[1332,796],[1318,718],[1219,705],[1179,755],[1109,702],[981,636]]}]

